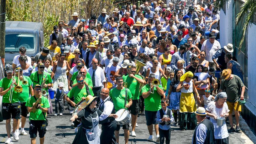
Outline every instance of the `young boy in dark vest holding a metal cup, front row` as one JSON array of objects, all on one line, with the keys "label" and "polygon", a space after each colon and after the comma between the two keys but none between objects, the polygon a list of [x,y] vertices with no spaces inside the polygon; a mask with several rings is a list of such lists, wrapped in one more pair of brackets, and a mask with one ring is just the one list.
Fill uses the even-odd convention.
[{"label": "young boy in dark vest holding a metal cup, front row", "polygon": [[[160,135],[160,144],[165,143],[170,144],[170,138],[171,138],[171,123],[174,121],[173,113],[172,111],[167,108],[168,101],[167,99],[163,98],[161,99],[161,107],[159,111],[157,111],[157,122],[159,122],[159,135]],[[164,117],[164,116],[168,117]]]}]

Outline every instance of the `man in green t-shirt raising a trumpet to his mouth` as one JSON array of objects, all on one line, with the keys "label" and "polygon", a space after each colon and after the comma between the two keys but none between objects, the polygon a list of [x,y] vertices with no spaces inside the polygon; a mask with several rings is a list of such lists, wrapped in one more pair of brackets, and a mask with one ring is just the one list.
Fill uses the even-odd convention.
[{"label": "man in green t-shirt raising a trumpet to his mouth", "polygon": [[152,84],[153,79],[155,79],[155,74],[153,73],[149,74],[147,79],[147,84],[143,86],[143,88],[141,89],[141,95],[144,98],[146,124],[150,134],[147,140],[148,141],[154,140],[154,136],[153,136],[153,124],[154,124],[156,135],[157,135],[156,139],[157,141],[159,141],[157,111],[161,109],[161,95],[163,95],[163,87],[162,85],[154,87]]}]

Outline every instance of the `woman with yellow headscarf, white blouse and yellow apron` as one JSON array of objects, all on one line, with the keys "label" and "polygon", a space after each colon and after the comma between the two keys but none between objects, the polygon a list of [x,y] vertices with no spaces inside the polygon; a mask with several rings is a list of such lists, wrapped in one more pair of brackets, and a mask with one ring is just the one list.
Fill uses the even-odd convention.
[{"label": "woman with yellow headscarf, white blouse and yellow apron", "polygon": [[179,101],[179,128],[184,131],[187,129],[195,129],[197,126],[197,120],[195,118],[196,104],[194,93],[199,97],[192,72],[186,72],[180,77],[179,85],[176,88],[176,92],[181,91]]}]

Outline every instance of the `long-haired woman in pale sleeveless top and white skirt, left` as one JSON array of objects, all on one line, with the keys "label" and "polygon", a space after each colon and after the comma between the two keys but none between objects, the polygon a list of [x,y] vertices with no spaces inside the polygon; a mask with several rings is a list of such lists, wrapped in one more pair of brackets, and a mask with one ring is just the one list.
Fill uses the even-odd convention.
[{"label": "long-haired woman in pale sleeveless top and white skirt, left", "polygon": [[53,88],[58,88],[58,83],[63,82],[64,83],[64,89],[68,90],[68,84],[67,84],[67,72],[70,71],[70,67],[68,65],[68,62],[65,61],[66,54],[62,53],[60,60],[54,62],[53,69],[51,72],[51,79],[53,79]]}]

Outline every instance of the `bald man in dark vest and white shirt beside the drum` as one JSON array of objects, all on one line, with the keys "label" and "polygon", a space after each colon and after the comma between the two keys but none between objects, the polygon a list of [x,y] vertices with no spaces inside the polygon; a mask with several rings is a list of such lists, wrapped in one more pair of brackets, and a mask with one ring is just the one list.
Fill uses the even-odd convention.
[{"label": "bald man in dark vest and white shirt beside the drum", "polygon": [[101,124],[102,133],[100,135],[101,144],[111,143],[114,131],[116,129],[116,121],[113,117],[108,117],[115,113],[114,104],[109,97],[109,89],[103,88],[100,92],[99,110],[102,114],[99,117],[99,124]]}]

